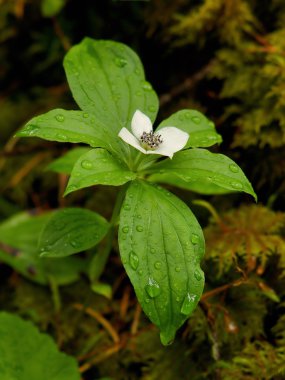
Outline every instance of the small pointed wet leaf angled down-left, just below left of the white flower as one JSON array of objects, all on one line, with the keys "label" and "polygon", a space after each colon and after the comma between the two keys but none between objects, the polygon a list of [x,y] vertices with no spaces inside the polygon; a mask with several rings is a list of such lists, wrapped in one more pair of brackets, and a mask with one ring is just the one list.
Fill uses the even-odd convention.
[{"label": "small pointed wet leaf angled down-left, just below left of the white flower", "polygon": [[136,178],[127,166],[105,149],[92,149],[74,165],[65,195],[93,185],[120,186]]}]

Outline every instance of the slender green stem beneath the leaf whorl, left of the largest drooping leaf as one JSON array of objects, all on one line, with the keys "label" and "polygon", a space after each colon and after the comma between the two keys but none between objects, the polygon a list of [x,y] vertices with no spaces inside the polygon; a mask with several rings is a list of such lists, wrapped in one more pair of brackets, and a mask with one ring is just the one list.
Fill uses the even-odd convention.
[{"label": "slender green stem beneath the leaf whorl, left of the largest drooping leaf", "polygon": [[125,194],[126,194],[128,186],[129,184],[126,183],[120,189],[120,192],[117,196],[116,203],[114,206],[113,214],[110,220],[111,227],[107,235],[105,236],[105,238],[102,240],[96,255],[91,261],[90,270],[89,270],[89,278],[92,282],[97,281],[98,278],[101,276],[106,266],[106,262],[109,258],[109,255],[112,249],[113,240],[115,237],[116,226],[118,224],[120,210],[121,210],[122,203],[125,198]]}]

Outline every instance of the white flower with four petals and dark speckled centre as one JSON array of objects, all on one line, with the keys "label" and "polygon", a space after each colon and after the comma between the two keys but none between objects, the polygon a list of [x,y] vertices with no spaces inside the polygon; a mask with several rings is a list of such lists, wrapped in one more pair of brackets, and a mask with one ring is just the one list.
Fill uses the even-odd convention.
[{"label": "white flower with four petals and dark speckled centre", "polygon": [[176,127],[164,127],[153,132],[151,120],[136,110],[131,123],[132,132],[122,128],[119,137],[144,154],[161,154],[173,157],[186,145],[189,135]]}]

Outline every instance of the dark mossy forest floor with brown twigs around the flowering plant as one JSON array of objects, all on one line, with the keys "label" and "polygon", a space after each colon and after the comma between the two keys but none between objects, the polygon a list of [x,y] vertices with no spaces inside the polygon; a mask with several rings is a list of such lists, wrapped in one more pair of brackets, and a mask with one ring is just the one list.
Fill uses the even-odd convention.
[{"label": "dark mossy forest floor with brown twigs around the flowering plant", "polygon": [[70,144],[13,138],[37,114],[77,108],[62,60],[85,36],[139,54],[160,97],[159,120],[181,108],[212,119],[224,139],[213,151],[242,167],[259,202],[171,189],[195,212],[207,244],[204,296],[172,346],[161,346],[141,313],[116,244],[101,278],[111,299],[92,292],[83,273],[59,288],[59,308],[54,289],[0,262],[0,308],[51,334],[84,380],[284,379],[284,1],[0,0],[1,221],[63,206],[110,217],[117,189],[62,198],[66,178],[45,171]]}]

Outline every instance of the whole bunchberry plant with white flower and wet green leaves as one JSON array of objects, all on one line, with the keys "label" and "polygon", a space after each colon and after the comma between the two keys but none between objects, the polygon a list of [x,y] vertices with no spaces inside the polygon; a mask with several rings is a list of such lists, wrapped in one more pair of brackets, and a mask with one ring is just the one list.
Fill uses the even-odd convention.
[{"label": "whole bunchberry plant with white flower and wet green leaves", "polygon": [[238,165],[204,149],[221,136],[200,112],[176,112],[153,131],[158,98],[126,45],[85,38],[66,54],[64,68],[81,110],[37,116],[18,136],[90,146],[69,156],[76,162],[65,195],[97,184],[123,186],[110,223],[90,210],[55,213],[43,229],[41,255],[67,256],[106,239],[90,265],[95,283],[119,223],[122,263],[144,312],[168,344],[201,297],[205,244],[189,207],[156,182],[205,194],[256,195]]}]

